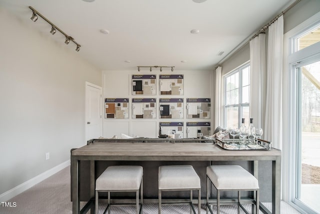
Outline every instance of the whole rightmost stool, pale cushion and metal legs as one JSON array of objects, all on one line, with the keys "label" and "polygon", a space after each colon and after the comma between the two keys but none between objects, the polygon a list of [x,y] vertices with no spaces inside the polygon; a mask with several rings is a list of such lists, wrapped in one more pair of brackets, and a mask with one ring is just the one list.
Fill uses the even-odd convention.
[{"label": "whole rightmost stool, pale cushion and metal legs", "polygon": [[[255,192],[255,212],[259,213],[259,185],[258,180],[247,170],[239,165],[210,165],[206,167],[206,213],[208,209],[211,214],[213,213],[209,199],[209,182],[212,182],[217,190],[216,206],[217,213],[220,213],[220,191],[221,190],[236,190],[238,191],[238,213],[240,213],[239,207],[243,210],[241,205],[240,191],[254,191]],[[252,211],[253,211],[252,204]],[[246,210],[245,210],[246,211]],[[247,212],[246,212],[247,213]]]}]

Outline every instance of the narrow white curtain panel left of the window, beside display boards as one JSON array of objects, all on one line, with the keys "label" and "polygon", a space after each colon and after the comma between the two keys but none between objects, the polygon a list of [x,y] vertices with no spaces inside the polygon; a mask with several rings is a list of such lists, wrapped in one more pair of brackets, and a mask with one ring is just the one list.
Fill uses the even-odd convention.
[{"label": "narrow white curtain panel left of the window, beside display boards", "polygon": [[221,66],[215,68],[214,128],[221,125]]}]

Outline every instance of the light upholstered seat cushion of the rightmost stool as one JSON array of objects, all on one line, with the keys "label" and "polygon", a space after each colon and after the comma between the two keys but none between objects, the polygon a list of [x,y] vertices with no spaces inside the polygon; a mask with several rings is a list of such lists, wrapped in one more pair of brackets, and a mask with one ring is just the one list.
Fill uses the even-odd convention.
[{"label": "light upholstered seat cushion of the rightmost stool", "polygon": [[258,180],[239,165],[210,165],[206,175],[216,189],[258,189]]}]

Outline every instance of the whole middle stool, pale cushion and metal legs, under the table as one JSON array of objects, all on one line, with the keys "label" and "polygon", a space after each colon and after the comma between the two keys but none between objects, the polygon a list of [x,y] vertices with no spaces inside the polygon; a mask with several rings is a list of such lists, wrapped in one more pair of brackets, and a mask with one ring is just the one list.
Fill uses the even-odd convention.
[{"label": "whole middle stool, pale cushion and metal legs, under the table", "polygon": [[192,205],[192,191],[198,190],[198,213],[201,210],[200,178],[191,165],[163,165],[158,172],[159,214],[161,213],[162,191],[190,191],[190,213],[195,213]]}]

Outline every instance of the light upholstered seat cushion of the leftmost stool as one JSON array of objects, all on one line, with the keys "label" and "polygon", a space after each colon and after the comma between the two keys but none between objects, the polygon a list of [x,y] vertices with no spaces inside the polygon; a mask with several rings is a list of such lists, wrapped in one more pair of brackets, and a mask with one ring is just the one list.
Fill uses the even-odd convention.
[{"label": "light upholstered seat cushion of the leftmost stool", "polygon": [[109,166],[96,179],[95,190],[137,190],[140,187],[142,175],[142,166]]}]

